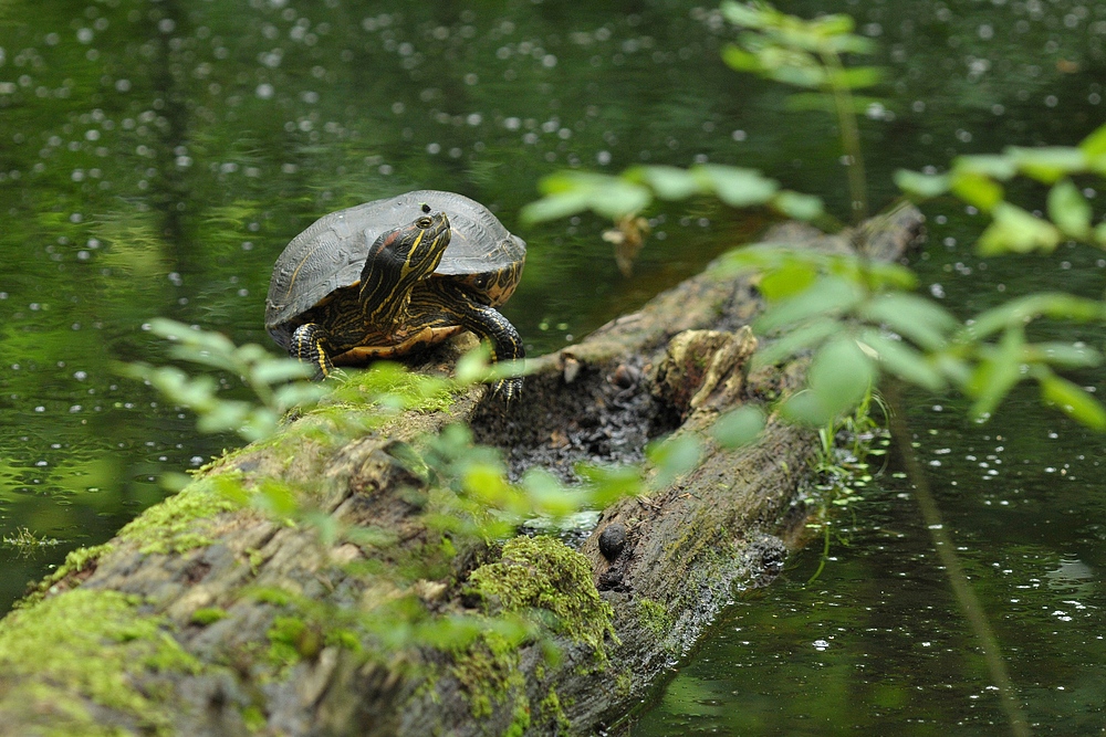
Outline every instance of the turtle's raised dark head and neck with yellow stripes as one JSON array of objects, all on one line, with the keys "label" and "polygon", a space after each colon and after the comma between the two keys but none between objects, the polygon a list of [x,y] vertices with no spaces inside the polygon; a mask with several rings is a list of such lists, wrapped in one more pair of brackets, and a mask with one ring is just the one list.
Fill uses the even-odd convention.
[{"label": "turtle's raised dark head and neck with yellow stripes", "polygon": [[382,233],[368,249],[359,298],[373,325],[388,328],[403,317],[415,284],[434,273],[449,245],[446,213],[421,209],[414,222]]}]

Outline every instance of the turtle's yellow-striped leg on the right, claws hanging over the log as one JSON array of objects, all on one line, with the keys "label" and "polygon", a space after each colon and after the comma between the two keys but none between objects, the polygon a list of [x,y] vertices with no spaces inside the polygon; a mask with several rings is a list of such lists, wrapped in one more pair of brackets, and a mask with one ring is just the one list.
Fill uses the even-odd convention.
[{"label": "turtle's yellow-striped leg on the right, claws hanging over the log", "polygon": [[[493,361],[520,361],[526,356],[522,337],[511,322],[498,309],[473,297],[465,287],[440,278],[425,282],[426,292],[417,289],[411,296],[411,314],[445,313],[455,325],[472,330],[481,340],[491,344]],[[418,304],[416,304],[416,299]],[[424,302],[426,301],[426,302]],[[492,393],[508,402],[522,394],[522,377],[512,376],[492,385]]]}]

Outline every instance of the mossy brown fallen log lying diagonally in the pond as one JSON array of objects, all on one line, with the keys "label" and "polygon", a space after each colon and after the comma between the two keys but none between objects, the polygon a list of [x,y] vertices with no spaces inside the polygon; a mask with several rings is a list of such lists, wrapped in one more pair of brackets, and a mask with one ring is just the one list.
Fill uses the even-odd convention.
[{"label": "mossy brown fallen log lying diagonally in the pond", "polygon": [[[897,257],[919,223],[897,209],[869,228],[870,248]],[[775,238],[838,250],[849,239],[797,228]],[[535,359],[509,410],[482,401],[482,387],[384,424],[332,404],[228,454],[111,543],[71,555],[0,623],[0,735],[609,726],[738,587],[779,571],[811,433],[770,418],[755,445],[708,443],[695,471],[603,510],[578,551],[542,536],[455,546],[428,524],[432,474],[407,451],[467,422],[515,475],[541,465],[571,480],[582,460],[640,461],[651,438],[700,432],[799,385],[801,361],[748,373],[759,307],[750,280],[708,267]],[[426,368],[447,370],[467,345]],[[289,489],[312,510],[296,522],[281,512]],[[243,503],[258,498],[270,508]],[[461,636],[473,621],[487,631]],[[532,630],[512,640],[511,622]]]}]

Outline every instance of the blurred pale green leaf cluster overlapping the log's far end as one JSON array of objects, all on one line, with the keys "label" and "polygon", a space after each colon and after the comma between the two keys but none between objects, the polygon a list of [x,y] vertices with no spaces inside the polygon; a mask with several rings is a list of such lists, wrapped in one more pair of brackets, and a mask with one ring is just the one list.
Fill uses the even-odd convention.
[{"label": "blurred pale green leaf cluster overlapping the log's far end", "polygon": [[813,352],[806,389],[780,406],[789,420],[832,424],[869,394],[880,372],[935,391],[954,373],[927,352],[946,349],[959,322],[905,291],[916,280],[904,266],[782,244],[734,251],[726,264],[757,272],[768,302],[753,329],[774,340],[753,356],[751,368]]}]

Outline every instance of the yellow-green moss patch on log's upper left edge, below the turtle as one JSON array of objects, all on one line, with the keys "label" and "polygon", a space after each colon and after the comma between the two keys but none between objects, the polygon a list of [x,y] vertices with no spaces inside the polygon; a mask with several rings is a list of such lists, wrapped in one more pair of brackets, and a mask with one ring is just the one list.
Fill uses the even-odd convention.
[{"label": "yellow-green moss patch on log's upper left edge, below the turtle", "polygon": [[207,534],[211,518],[239,507],[219,491],[221,483],[233,482],[217,476],[186,486],[179,494],[152,506],[127,524],[119,530],[119,539],[136,543],[138,549],[146,554],[185,552],[211,545]]}]

